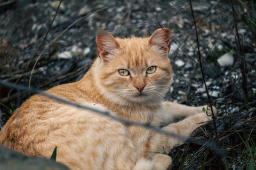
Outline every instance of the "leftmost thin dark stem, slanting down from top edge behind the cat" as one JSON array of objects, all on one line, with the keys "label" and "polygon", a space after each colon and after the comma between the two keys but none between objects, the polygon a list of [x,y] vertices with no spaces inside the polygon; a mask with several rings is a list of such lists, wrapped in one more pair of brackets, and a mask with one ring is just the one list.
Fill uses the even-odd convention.
[{"label": "leftmost thin dark stem, slanting down from top edge behind the cat", "polygon": [[[57,10],[56,10],[56,13],[55,13],[54,17],[52,18],[52,22],[51,22],[51,24],[50,24],[50,26],[49,26],[48,31],[46,32],[46,34],[45,34],[45,36],[44,36],[44,39],[41,41],[40,45],[39,45],[38,48],[36,49],[36,51],[35,51],[35,53],[34,53],[34,55],[33,55],[33,57],[32,57],[31,60],[33,60],[33,58],[34,58],[35,55],[36,55],[36,52],[38,52],[38,50],[39,50],[40,47],[42,46],[43,42],[45,41],[47,35],[48,35],[49,32],[51,31],[52,24],[53,24],[53,22],[54,22],[54,20],[55,20],[55,18],[56,18],[56,15],[57,15],[57,13],[58,13],[58,11],[59,11],[59,9],[60,9],[61,2],[62,2],[62,0],[60,0],[60,3],[59,3],[58,8],[57,8]],[[40,55],[40,56],[41,56],[41,55]],[[36,59],[36,62],[35,62],[35,64],[34,64],[32,70],[31,70],[31,74],[30,74],[30,77],[29,77],[28,87],[30,87],[30,83],[31,83],[31,78],[32,78],[33,70],[35,69],[36,63],[38,62],[39,59],[40,59],[40,57],[38,57],[38,58]],[[30,61],[31,61],[31,60],[30,60]],[[30,64],[30,62],[29,62],[29,64]],[[26,66],[26,69],[28,68],[29,64]]]}]

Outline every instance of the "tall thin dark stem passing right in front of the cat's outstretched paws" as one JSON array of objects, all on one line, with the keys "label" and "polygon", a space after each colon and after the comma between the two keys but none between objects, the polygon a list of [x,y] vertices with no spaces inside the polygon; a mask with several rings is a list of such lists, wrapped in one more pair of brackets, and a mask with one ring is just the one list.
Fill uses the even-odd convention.
[{"label": "tall thin dark stem passing right in front of the cat's outstretched paws", "polygon": [[[198,33],[197,33],[197,29],[196,29],[196,21],[195,21],[195,16],[194,16],[193,6],[192,6],[192,3],[191,3],[191,0],[189,0],[189,3],[190,3],[190,8],[191,8],[191,13],[192,13],[194,25],[195,25],[196,43],[197,43],[197,49],[198,49],[198,59],[199,59],[199,64],[200,64],[199,66],[200,66],[202,77],[203,77],[203,80],[204,80],[205,91],[206,91],[208,102],[209,102],[209,105],[210,105],[210,108],[211,108],[211,113],[213,113],[212,101],[211,101],[211,97],[209,95],[209,92],[208,92],[208,89],[207,89],[207,85],[206,85],[206,82],[205,82],[204,69],[203,69],[202,62],[201,62]],[[207,114],[207,111],[206,111],[206,114]],[[215,136],[216,136],[216,139],[217,139],[216,141],[218,141],[218,132],[217,132],[217,128],[216,128],[216,120],[215,120],[214,114],[207,115],[207,116],[212,116],[212,121],[213,121],[213,125],[214,125],[214,130],[215,130],[214,132],[215,132]]]}]

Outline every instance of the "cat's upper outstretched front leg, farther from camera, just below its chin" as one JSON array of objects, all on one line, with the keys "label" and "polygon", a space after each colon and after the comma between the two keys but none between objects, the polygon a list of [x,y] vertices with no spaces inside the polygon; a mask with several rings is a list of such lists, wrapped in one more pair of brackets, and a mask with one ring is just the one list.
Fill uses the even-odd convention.
[{"label": "cat's upper outstretched front leg, farther from camera, just below its chin", "polygon": [[[197,113],[202,113],[203,108],[205,108],[205,111],[207,111],[208,115],[211,115],[211,108],[207,107],[207,105],[192,107],[186,106],[184,104],[165,101],[162,104],[161,110],[159,110],[159,115],[156,117],[156,122],[159,122],[160,124],[170,123],[177,118],[186,118]],[[214,106],[212,106],[212,110],[215,114],[216,108]]]}]

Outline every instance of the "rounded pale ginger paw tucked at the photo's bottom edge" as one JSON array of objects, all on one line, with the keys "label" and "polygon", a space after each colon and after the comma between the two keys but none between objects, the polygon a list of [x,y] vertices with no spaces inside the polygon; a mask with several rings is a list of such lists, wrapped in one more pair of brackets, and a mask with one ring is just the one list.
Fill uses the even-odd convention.
[{"label": "rounded pale ginger paw tucked at the photo's bottom edge", "polygon": [[155,170],[166,170],[172,164],[172,158],[168,155],[157,153],[154,155],[152,162]]}]

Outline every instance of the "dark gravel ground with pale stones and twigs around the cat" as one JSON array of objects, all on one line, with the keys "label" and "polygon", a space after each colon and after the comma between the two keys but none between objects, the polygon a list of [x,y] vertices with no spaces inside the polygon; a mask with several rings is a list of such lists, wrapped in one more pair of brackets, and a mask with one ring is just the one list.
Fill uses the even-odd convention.
[{"label": "dark gravel ground with pale stones and twigs around the cat", "polygon": [[[97,56],[97,30],[104,29],[119,37],[144,37],[159,27],[168,27],[172,34],[169,56],[175,75],[166,99],[190,106],[207,104],[202,73],[196,64],[198,50],[189,1],[63,1],[51,25],[58,4],[59,1],[0,0],[1,80],[29,86],[31,78],[31,86],[38,89],[76,81]],[[248,81],[248,97],[244,102],[241,59],[230,1],[193,1],[193,10],[205,81],[212,104],[218,108],[216,129],[209,124],[198,129],[194,136],[217,141],[226,153],[227,167],[244,169],[251,156],[243,139],[256,137],[255,32],[246,25],[244,9],[236,3]],[[223,55],[225,59],[221,59]],[[0,90],[3,126],[19,103],[16,90],[6,87]],[[21,101],[28,96],[31,94],[22,92]],[[255,161],[255,150],[253,154]],[[170,155],[173,169],[225,169],[225,159],[218,153],[189,142],[174,148]]]}]

